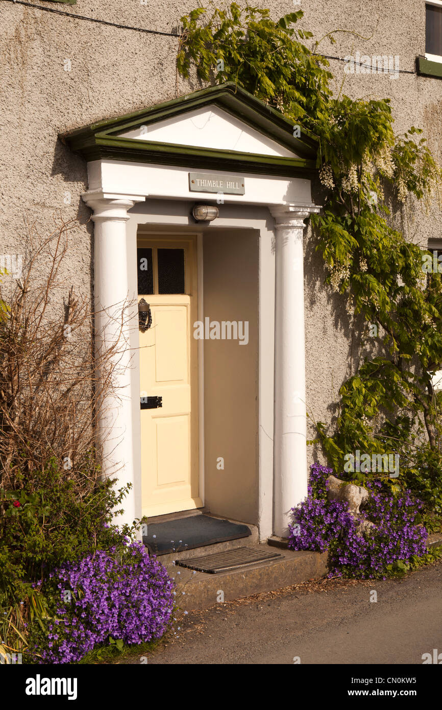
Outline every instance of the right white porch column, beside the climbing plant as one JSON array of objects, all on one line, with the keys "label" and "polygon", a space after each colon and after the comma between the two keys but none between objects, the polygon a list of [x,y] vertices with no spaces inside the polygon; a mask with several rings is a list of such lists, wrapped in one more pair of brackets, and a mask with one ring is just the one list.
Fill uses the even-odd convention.
[{"label": "right white porch column, beside the climbing plant", "polygon": [[314,204],[272,207],[276,222],[274,530],[287,537],[290,508],[307,494],[304,220]]}]

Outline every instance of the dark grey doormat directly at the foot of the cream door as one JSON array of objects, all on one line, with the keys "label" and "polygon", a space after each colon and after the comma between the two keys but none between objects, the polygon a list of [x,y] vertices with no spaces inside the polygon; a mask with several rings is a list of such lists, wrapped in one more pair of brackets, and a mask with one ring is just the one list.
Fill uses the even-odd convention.
[{"label": "dark grey doormat directly at the foot of the cream door", "polygon": [[252,534],[247,525],[231,523],[230,520],[211,518],[209,515],[192,515],[176,518],[165,523],[149,523],[148,534],[143,535],[143,543],[153,555],[167,552],[183,552],[216,542],[239,540]]}]

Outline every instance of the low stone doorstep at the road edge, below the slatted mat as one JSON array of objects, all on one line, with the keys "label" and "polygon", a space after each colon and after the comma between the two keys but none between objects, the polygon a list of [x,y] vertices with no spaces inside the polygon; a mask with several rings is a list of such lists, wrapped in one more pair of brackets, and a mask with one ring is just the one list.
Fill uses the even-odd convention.
[{"label": "low stone doorstep at the road edge, below the slatted mat", "polygon": [[[232,542],[236,542],[235,547],[243,545],[243,540],[233,540]],[[251,546],[256,550],[264,548],[268,550],[267,545]],[[215,546],[211,545],[210,547],[214,548]],[[195,552],[203,554],[201,548]],[[179,579],[177,582],[178,608],[182,611],[207,609],[219,601],[220,591],[223,592],[223,601],[234,601],[240,596],[250,596],[250,594],[257,594],[260,591],[275,591],[309,579],[321,579],[328,572],[326,552],[293,552],[292,550],[278,550],[278,552],[282,555],[282,559],[257,562],[250,567],[241,567],[220,574],[206,574],[205,572],[193,574],[192,569],[168,564],[167,572],[171,577],[175,577],[175,581]],[[194,555],[194,557],[198,556]],[[177,558],[175,557],[175,559]],[[182,594],[183,591],[184,594]]]}]

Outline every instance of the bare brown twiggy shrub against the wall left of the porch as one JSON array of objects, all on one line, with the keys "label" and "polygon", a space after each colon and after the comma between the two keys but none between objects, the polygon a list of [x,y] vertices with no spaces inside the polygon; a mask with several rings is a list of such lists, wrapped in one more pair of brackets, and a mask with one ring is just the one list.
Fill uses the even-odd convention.
[{"label": "bare brown twiggy shrub against the wall left of the porch", "polygon": [[79,496],[100,475],[97,422],[116,394],[131,304],[113,307],[112,342],[103,337],[96,351],[94,322],[103,323],[103,313],[96,318],[89,297],[62,279],[74,226],[62,222],[43,239],[30,226],[22,278],[1,277],[8,311],[0,320],[0,488],[21,488],[50,459],[65,468]]}]

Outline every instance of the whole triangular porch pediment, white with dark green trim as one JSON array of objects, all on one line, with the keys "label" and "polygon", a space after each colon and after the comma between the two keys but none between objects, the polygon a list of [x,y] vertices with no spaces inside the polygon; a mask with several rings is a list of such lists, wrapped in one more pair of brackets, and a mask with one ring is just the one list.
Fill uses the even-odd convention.
[{"label": "whole triangular porch pediment, white with dark green trim", "polygon": [[235,84],[219,84],[60,136],[89,160],[136,160],[245,173],[305,175],[316,141]]}]

